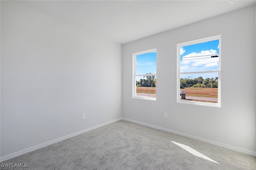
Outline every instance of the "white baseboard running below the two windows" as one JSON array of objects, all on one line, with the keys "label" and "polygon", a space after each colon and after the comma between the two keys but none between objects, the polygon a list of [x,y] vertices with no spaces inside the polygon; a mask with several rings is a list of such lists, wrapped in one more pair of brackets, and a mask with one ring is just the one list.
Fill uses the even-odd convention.
[{"label": "white baseboard running below the two windows", "polygon": [[176,135],[181,135],[181,136],[184,136],[184,137],[189,137],[191,139],[196,139],[198,141],[203,141],[203,142],[206,142],[206,143],[217,145],[219,147],[224,147],[224,148],[227,148],[227,149],[235,150],[235,151],[242,152],[242,153],[245,153],[245,154],[249,154],[249,155],[252,155],[252,156],[256,156],[256,152],[254,152],[252,150],[247,150],[247,149],[243,149],[243,148],[239,148],[239,147],[234,147],[232,145],[228,145],[228,144],[225,144],[225,143],[220,143],[220,142],[217,142],[217,141],[212,141],[212,140],[209,140],[209,139],[204,139],[202,137],[197,137],[197,136],[194,136],[194,135],[189,135],[189,134],[186,134],[186,133],[174,131],[174,130],[171,130],[171,129],[166,129],[164,127],[150,125],[148,123],[143,123],[143,122],[140,122],[140,121],[135,121],[135,120],[132,120],[132,119],[127,119],[127,118],[124,118],[124,117],[123,117],[123,120],[130,121],[130,122],[137,123],[137,124],[144,125],[144,126],[148,126],[148,127],[152,127],[154,129],[159,129],[159,130],[162,130],[162,131],[174,133]]}]

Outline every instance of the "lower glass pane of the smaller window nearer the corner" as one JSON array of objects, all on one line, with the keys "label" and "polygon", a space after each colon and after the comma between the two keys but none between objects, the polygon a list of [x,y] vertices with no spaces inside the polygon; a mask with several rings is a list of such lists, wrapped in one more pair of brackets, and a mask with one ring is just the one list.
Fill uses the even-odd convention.
[{"label": "lower glass pane of the smaller window nearer the corner", "polygon": [[136,76],[136,96],[156,98],[156,76]]}]

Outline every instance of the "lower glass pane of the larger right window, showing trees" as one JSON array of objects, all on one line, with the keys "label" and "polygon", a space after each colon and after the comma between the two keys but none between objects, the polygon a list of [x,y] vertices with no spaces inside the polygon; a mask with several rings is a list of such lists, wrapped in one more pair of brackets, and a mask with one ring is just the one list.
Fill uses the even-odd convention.
[{"label": "lower glass pane of the larger right window, showing trees", "polygon": [[196,102],[218,102],[218,72],[203,74],[180,74],[180,91],[186,93],[186,99]]}]

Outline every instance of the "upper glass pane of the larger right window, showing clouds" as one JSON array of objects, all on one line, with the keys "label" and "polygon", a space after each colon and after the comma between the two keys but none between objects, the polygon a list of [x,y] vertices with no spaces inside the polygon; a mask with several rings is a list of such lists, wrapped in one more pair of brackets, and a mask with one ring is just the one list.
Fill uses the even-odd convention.
[{"label": "upper glass pane of the larger right window, showing clouds", "polygon": [[180,72],[219,70],[219,40],[180,47]]}]

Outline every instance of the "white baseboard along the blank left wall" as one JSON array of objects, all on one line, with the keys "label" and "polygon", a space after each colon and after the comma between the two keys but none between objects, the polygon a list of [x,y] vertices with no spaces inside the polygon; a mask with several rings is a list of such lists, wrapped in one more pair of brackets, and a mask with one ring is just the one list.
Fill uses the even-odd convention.
[{"label": "white baseboard along the blank left wall", "polygon": [[6,155],[6,156],[2,156],[2,157],[0,157],[0,162],[3,162],[3,161],[5,161],[5,160],[11,159],[11,158],[14,158],[14,157],[16,157],[16,156],[20,156],[20,155],[22,155],[22,154],[26,154],[26,153],[28,153],[28,152],[32,152],[32,151],[34,151],[34,150],[37,150],[37,149],[46,147],[46,146],[48,146],[48,145],[52,145],[52,144],[54,144],[54,143],[63,141],[63,140],[65,140],[65,139],[68,139],[68,138],[71,138],[71,137],[80,135],[80,134],[82,134],[82,133],[85,133],[85,132],[88,132],[88,131],[97,129],[97,128],[99,128],[99,127],[102,127],[102,126],[105,126],[105,125],[108,125],[108,124],[110,124],[110,123],[114,123],[114,122],[120,121],[120,120],[122,120],[122,118],[114,119],[114,120],[112,120],[112,121],[108,121],[108,122],[106,122],[106,123],[102,123],[102,124],[100,124],[100,125],[96,125],[96,126],[94,126],[94,127],[90,127],[90,128],[88,128],[88,129],[84,129],[84,130],[82,130],[82,131],[78,131],[78,132],[75,132],[75,133],[72,133],[72,134],[69,134],[69,135],[66,135],[66,136],[63,136],[63,137],[54,139],[54,140],[52,140],[52,141],[48,141],[48,142],[45,142],[45,143],[36,145],[36,146],[34,146],[34,147],[30,147],[30,148],[27,148],[27,149],[20,150],[20,151],[18,151],[18,152],[14,152],[14,153],[12,153],[12,154],[8,154],[8,155]]}]

